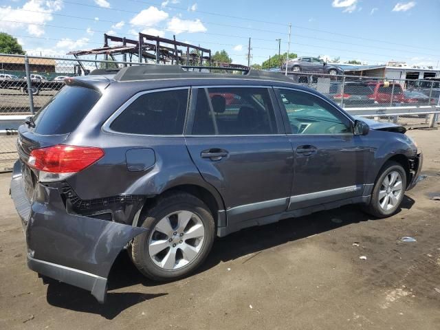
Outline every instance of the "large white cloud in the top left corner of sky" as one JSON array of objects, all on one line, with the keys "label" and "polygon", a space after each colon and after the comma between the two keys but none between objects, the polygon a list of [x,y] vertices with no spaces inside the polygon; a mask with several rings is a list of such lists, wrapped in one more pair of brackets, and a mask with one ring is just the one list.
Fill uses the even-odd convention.
[{"label": "large white cloud in the top left corner of sky", "polygon": [[61,10],[62,5],[61,0],[29,0],[23,7],[1,8],[0,31],[13,34],[27,30],[32,36],[42,36],[45,23],[54,19],[52,13]]}]

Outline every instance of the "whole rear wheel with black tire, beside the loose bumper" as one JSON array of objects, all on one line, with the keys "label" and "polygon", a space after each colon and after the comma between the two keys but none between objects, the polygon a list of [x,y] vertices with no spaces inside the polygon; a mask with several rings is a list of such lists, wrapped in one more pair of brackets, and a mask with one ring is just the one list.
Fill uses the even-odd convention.
[{"label": "whole rear wheel with black tire, beside the loose bumper", "polygon": [[133,240],[131,259],[144,276],[174,281],[188,276],[205,261],[214,242],[215,224],[203,201],[186,192],[175,192],[159,197],[143,213],[141,227],[149,231]]}]

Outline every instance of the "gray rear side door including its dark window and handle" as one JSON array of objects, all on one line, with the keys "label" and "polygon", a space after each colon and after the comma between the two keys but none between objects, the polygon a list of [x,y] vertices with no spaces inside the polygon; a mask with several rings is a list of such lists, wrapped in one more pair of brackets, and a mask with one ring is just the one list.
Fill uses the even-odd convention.
[{"label": "gray rear side door including its dark window and handle", "polygon": [[228,225],[283,212],[293,153],[272,89],[193,88],[188,151],[225,202]]}]

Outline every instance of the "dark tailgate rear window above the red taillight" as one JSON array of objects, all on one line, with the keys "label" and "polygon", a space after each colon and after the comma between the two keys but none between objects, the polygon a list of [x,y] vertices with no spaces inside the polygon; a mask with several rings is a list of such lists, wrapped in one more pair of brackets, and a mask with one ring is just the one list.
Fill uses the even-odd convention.
[{"label": "dark tailgate rear window above the red taillight", "polygon": [[94,89],[65,86],[34,117],[35,133],[67,134],[85,118],[99,100]]}]

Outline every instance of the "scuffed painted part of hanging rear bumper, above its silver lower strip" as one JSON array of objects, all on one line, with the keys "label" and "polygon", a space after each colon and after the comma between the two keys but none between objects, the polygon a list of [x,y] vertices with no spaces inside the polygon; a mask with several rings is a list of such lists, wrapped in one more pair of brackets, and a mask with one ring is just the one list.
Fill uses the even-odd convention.
[{"label": "scuffed painted part of hanging rear bumper, above its silver lower strip", "polygon": [[112,221],[68,214],[58,188],[39,185],[26,239],[34,258],[107,278],[116,256],[146,232]]}]

